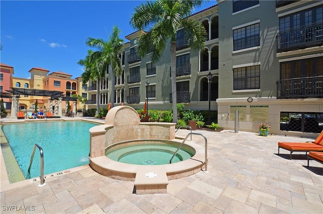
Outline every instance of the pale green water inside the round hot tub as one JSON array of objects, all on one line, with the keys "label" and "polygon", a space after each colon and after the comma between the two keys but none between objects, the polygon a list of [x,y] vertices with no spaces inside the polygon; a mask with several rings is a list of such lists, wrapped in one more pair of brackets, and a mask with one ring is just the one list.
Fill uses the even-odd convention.
[{"label": "pale green water inside the round hot tub", "polygon": [[[114,161],[135,165],[164,165],[177,150],[178,145],[165,143],[142,143],[127,145],[118,149],[107,150],[105,155]],[[173,163],[185,161],[193,156],[193,152],[182,148],[172,160]]]}]

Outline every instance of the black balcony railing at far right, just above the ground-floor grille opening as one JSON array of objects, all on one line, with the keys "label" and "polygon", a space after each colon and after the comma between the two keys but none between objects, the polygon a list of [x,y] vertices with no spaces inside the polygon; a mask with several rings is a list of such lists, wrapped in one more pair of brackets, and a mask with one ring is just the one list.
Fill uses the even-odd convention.
[{"label": "black balcony railing at far right, just above the ground-floor grille opening", "polygon": [[277,98],[323,97],[323,76],[277,81]]}]

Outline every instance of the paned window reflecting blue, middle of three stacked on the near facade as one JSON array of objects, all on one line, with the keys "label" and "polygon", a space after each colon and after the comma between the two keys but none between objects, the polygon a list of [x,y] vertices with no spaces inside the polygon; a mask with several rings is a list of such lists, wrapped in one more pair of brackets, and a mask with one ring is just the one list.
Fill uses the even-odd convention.
[{"label": "paned window reflecting blue, middle of three stacked on the near facade", "polygon": [[259,45],[259,23],[233,30],[233,50]]}]

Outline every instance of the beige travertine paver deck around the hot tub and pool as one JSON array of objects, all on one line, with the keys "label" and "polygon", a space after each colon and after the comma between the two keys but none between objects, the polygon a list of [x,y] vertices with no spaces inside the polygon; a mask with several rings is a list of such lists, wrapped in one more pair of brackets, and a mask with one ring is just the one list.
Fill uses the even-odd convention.
[{"label": "beige travertine paver deck around the hot tub and pool", "polygon": [[[307,169],[303,155],[289,160],[283,149],[277,155],[278,141],[312,139],[195,132],[207,137],[208,173],[170,180],[166,194],[136,195],[134,182],[83,166],[46,179],[45,187],[27,181],[1,184],[1,213],[323,213],[323,166],[311,161]],[[179,130],[176,135],[188,133]],[[200,136],[192,141],[204,146]],[[35,210],[17,211],[19,205]]]}]

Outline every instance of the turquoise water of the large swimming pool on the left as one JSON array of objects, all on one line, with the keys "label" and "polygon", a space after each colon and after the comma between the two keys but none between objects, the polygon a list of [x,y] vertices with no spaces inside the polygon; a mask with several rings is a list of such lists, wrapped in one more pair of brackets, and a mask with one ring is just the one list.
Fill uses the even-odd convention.
[{"label": "turquoise water of the large swimming pool on the left", "polygon": [[36,148],[30,175],[28,167],[34,145],[43,149],[44,175],[89,164],[89,129],[82,121],[48,121],[2,125],[17,163],[26,179],[39,177],[40,154]]}]

